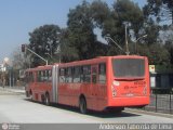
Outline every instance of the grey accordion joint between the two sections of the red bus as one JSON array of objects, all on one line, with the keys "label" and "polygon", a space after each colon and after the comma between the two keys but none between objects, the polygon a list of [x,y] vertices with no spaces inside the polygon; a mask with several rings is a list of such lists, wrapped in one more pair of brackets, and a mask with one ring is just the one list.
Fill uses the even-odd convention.
[{"label": "grey accordion joint between the two sections of the red bus", "polygon": [[57,103],[58,65],[52,67],[52,102]]}]

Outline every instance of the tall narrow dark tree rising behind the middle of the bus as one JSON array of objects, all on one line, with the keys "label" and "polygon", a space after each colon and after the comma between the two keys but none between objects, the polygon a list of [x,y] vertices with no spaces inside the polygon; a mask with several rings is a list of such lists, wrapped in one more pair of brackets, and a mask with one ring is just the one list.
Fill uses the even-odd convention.
[{"label": "tall narrow dark tree rising behind the middle of the bus", "polygon": [[96,36],[93,32],[90,3],[83,1],[82,4],[70,10],[67,25],[70,47],[76,48],[79,60],[94,57]]}]

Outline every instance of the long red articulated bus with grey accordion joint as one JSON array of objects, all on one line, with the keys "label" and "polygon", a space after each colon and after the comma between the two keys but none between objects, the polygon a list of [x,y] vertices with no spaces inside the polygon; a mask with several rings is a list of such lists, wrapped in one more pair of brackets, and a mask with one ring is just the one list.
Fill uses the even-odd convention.
[{"label": "long red articulated bus with grey accordion joint", "polygon": [[148,60],[138,55],[39,66],[26,70],[26,95],[34,101],[86,109],[117,110],[149,104]]}]

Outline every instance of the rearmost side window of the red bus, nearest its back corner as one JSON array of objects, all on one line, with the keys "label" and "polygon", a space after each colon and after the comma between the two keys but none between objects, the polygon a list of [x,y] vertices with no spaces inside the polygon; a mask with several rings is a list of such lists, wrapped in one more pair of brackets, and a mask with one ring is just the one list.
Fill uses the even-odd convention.
[{"label": "rearmost side window of the red bus, nearest its back corner", "polygon": [[99,70],[98,82],[106,83],[106,63],[99,64],[98,70]]}]

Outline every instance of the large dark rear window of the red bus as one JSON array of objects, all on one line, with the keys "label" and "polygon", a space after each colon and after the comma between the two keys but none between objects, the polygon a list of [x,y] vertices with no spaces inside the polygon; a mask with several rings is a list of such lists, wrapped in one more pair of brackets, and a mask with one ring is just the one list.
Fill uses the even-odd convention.
[{"label": "large dark rear window of the red bus", "polygon": [[114,58],[112,68],[116,78],[143,78],[145,75],[145,60]]}]

